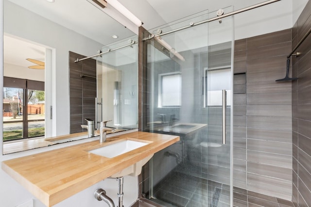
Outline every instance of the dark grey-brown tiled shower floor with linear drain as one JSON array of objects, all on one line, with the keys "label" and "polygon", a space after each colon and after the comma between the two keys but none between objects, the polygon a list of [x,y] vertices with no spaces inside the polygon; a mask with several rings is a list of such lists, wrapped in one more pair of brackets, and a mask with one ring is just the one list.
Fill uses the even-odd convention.
[{"label": "dark grey-brown tiled shower floor with linear drain", "polygon": [[[217,207],[229,207],[230,188],[222,183],[174,172],[161,181],[158,186],[154,193],[156,199],[152,200],[163,207],[209,207],[208,205],[213,200],[213,193],[216,188],[221,189]],[[233,206],[294,207],[291,201],[236,187],[233,188]],[[212,207],[215,206],[212,205]]]}]

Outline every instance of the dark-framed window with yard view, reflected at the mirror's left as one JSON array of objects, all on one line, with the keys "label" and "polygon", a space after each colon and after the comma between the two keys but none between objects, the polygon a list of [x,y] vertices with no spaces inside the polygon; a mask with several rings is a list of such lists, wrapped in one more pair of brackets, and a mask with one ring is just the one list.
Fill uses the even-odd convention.
[{"label": "dark-framed window with yard view, reflected at the mirror's left", "polygon": [[44,82],[4,77],[3,86],[3,141],[44,136]]}]

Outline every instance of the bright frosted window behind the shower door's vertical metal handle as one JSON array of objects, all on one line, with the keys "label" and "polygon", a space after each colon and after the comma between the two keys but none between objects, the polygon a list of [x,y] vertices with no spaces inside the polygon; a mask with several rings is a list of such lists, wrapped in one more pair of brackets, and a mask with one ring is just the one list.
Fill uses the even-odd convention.
[{"label": "bright frosted window behind the shower door's vertical metal handle", "polygon": [[227,105],[231,103],[231,68],[209,68],[205,72],[205,106],[221,106],[222,90],[227,91]]}]

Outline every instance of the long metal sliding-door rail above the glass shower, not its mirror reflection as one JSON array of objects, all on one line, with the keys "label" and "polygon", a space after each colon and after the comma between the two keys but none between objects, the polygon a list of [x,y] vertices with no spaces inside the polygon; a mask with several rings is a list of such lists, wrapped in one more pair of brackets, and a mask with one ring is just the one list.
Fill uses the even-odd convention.
[{"label": "long metal sliding-door rail above the glass shower, not its mirror reflection", "polygon": [[265,6],[265,5],[270,4],[270,3],[274,3],[276,1],[280,1],[280,0],[268,0],[268,1],[261,2],[259,4],[255,4],[253,6],[245,7],[245,8],[242,8],[242,9],[230,12],[228,14],[221,15],[221,16],[216,16],[216,17],[204,20],[204,21],[197,22],[197,23],[190,22],[190,24],[185,26],[185,27],[181,27],[181,28],[169,31],[169,32],[163,32],[163,33],[160,33],[160,34],[150,34],[149,37],[145,37],[142,40],[146,41],[146,40],[153,39],[154,37],[159,37],[159,36],[163,36],[163,35],[166,35],[166,34],[171,34],[173,32],[178,32],[178,31],[181,31],[181,30],[185,30],[185,29],[188,29],[188,28],[193,27],[193,26],[205,24],[207,22],[215,21],[215,20],[227,17],[227,16],[232,16],[232,15],[236,15],[236,14],[239,14],[239,13],[242,13],[242,12],[246,12],[248,10],[256,9],[258,7]]}]

